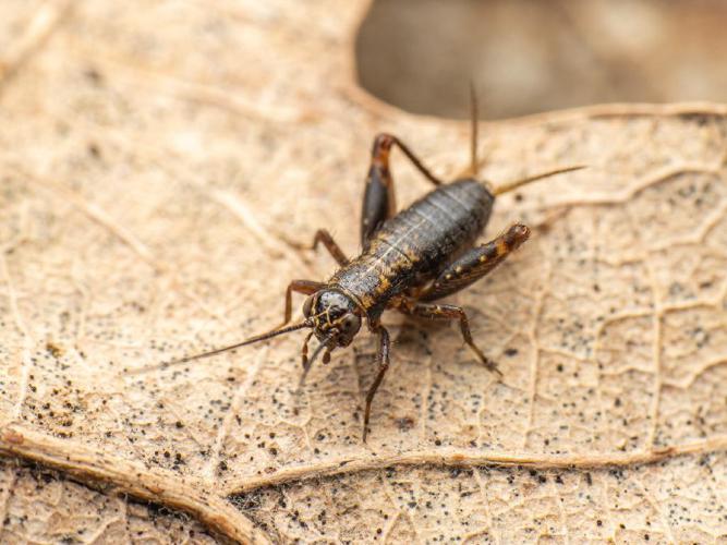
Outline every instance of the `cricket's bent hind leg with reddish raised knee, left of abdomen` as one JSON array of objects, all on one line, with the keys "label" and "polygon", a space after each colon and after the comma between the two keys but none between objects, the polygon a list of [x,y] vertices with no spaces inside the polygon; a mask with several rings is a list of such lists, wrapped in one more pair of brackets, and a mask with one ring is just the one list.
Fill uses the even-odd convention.
[{"label": "cricket's bent hind leg with reddish raised knee, left of abdomen", "polygon": [[399,149],[412,161],[432,183],[440,185],[443,182],[424,167],[422,161],[399,138],[391,134],[378,134],[374,138],[371,167],[366,177],[363,209],[361,213],[361,244],[367,247],[368,239],[387,218],[397,213],[397,203],[393,192],[393,179],[389,170],[389,154],[391,146]]}]

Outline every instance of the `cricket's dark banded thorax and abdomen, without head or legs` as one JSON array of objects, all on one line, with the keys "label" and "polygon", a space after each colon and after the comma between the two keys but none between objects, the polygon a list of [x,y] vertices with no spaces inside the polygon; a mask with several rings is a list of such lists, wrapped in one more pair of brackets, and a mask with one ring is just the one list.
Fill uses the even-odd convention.
[{"label": "cricket's dark banded thorax and abdomen, without head or legs", "polygon": [[434,278],[472,245],[489,219],[494,197],[475,180],[432,191],[385,221],[364,253],[329,281],[377,317],[388,300]]}]

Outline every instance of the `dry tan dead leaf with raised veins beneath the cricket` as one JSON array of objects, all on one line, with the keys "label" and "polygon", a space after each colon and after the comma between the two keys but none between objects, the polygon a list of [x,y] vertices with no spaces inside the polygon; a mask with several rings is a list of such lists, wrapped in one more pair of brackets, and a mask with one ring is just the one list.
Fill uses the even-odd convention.
[{"label": "dry tan dead leaf with raised veins beneath the cricket", "polygon": [[[355,86],[365,9],[3,3],[1,542],[727,541],[723,106],[483,123],[489,180],[590,168],[501,198],[488,233],[534,237],[455,298],[502,383],[389,317],[368,445],[365,335],[300,400],[295,336],[159,365],[332,272],[291,240],[358,251],[375,133],[467,165],[464,123]],[[401,203],[427,191],[393,168]]]}]

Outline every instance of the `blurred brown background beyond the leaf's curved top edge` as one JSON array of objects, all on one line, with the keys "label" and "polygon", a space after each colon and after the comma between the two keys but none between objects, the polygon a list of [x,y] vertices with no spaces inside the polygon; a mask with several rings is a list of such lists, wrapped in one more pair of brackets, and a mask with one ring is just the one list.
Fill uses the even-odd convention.
[{"label": "blurred brown background beyond the leaf's curved top edge", "polygon": [[359,80],[415,113],[502,119],[602,102],[727,100],[722,0],[376,0]]}]

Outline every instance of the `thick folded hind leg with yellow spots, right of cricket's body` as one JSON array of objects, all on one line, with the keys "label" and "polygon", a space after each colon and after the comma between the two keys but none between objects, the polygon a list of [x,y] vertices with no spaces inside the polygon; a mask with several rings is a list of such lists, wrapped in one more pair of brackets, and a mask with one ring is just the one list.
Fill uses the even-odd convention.
[{"label": "thick folded hind leg with yellow spots, right of cricket's body", "polygon": [[435,301],[467,288],[502,263],[528,240],[528,237],[530,229],[522,223],[516,223],[493,241],[473,247],[449,264],[419,299]]}]

